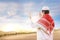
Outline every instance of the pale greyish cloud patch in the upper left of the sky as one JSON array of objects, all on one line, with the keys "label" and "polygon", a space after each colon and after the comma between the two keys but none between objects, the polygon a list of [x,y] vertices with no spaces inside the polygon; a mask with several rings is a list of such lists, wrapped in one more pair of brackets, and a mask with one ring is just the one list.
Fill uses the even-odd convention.
[{"label": "pale greyish cloud patch in the upper left of the sky", "polygon": [[18,9],[18,4],[17,3],[9,3],[8,10],[7,10],[8,15],[9,16],[16,15],[17,9]]}]

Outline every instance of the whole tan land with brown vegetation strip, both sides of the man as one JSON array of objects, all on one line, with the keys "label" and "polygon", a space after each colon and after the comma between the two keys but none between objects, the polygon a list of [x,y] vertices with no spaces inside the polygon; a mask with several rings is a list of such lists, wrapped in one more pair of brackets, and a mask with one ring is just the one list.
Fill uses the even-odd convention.
[{"label": "whole tan land with brown vegetation strip, both sides of the man", "polygon": [[[18,35],[17,35],[18,34]],[[22,35],[21,35],[22,34]],[[4,35],[4,36],[2,36]],[[12,35],[12,36],[9,36]],[[13,36],[14,35],[14,36]],[[0,32],[0,40],[1,39],[6,39],[8,37],[7,40],[36,40],[36,33],[16,33],[16,32],[10,32],[10,33],[3,33]],[[59,30],[54,30],[54,40],[60,40],[60,29]]]}]

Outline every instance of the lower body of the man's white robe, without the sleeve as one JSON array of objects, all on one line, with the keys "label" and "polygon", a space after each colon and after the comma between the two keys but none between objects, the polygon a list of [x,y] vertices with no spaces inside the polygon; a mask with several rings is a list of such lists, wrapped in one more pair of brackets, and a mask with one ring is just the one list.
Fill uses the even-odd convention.
[{"label": "lower body of the man's white robe, without the sleeve", "polygon": [[53,34],[47,35],[42,30],[37,30],[37,40],[53,40]]}]

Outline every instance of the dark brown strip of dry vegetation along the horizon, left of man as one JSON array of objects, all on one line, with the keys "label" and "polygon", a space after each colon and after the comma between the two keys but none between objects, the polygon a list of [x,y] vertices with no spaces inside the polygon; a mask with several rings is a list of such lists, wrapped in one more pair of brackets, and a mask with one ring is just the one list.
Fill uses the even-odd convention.
[{"label": "dark brown strip of dry vegetation along the horizon, left of man", "polygon": [[35,33],[35,32],[2,32],[2,31],[0,31],[0,37],[19,35],[19,34],[32,34],[32,33]]}]

